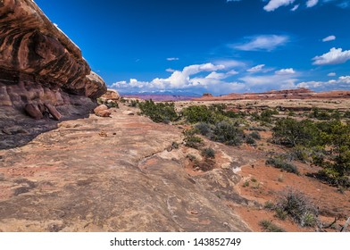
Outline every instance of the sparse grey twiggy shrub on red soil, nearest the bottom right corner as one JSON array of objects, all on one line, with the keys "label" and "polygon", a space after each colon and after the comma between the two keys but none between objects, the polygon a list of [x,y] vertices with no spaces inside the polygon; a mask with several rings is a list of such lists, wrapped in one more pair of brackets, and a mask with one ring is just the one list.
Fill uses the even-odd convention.
[{"label": "sparse grey twiggy shrub on red soil, nearest the bottom right corner", "polygon": [[294,189],[287,189],[279,196],[276,212],[292,218],[302,227],[316,226],[318,210],[309,197]]}]

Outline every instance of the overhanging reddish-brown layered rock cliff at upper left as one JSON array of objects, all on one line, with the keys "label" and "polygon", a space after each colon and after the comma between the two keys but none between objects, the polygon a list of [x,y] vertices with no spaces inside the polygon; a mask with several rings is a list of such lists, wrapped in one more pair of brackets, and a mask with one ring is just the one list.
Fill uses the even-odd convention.
[{"label": "overhanging reddish-brown layered rock cliff at upper left", "polygon": [[106,91],[79,47],[33,1],[0,0],[0,30],[0,106],[81,105]]}]

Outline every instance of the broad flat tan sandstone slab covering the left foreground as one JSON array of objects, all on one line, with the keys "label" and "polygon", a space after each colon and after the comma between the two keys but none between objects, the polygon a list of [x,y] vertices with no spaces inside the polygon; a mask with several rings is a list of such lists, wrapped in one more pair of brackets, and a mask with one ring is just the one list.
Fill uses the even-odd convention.
[{"label": "broad flat tan sandstone slab covering the left foreground", "polygon": [[234,169],[254,157],[216,145],[225,167],[189,175],[182,129],[111,111],[0,151],[0,231],[251,230],[228,204],[249,203]]}]

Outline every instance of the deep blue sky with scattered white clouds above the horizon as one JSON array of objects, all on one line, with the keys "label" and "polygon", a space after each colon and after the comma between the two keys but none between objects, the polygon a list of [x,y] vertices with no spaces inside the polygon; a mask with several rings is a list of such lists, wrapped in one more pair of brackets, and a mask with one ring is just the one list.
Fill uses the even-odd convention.
[{"label": "deep blue sky with scattered white clouds above the horizon", "polygon": [[122,94],[350,90],[350,0],[36,0]]}]

